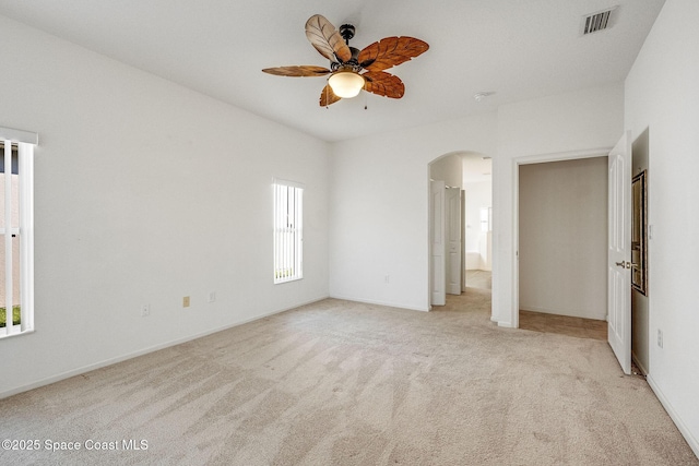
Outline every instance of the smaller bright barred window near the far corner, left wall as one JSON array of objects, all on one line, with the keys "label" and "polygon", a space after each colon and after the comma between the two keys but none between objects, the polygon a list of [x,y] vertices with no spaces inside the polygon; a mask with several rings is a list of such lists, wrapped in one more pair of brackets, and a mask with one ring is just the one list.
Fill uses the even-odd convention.
[{"label": "smaller bright barred window near the far corner, left wall", "polygon": [[304,187],[274,180],[274,283],[304,277]]}]

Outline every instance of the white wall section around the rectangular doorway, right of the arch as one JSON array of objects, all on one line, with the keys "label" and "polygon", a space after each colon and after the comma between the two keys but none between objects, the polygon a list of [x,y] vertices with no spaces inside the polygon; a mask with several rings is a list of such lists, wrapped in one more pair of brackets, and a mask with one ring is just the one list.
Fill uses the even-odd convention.
[{"label": "white wall section around the rectangular doorway, right of the arch", "polygon": [[517,166],[602,155],[624,131],[624,88],[609,84],[498,110],[498,153],[493,159],[493,320],[518,324],[516,280]]}]

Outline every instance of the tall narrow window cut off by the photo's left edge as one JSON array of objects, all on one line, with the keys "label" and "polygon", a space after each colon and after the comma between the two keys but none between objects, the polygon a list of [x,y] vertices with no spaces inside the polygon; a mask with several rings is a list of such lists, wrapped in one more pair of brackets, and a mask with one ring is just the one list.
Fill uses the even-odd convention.
[{"label": "tall narrow window cut off by the photo's left edge", "polygon": [[0,128],[0,338],[34,330],[35,133]]}]

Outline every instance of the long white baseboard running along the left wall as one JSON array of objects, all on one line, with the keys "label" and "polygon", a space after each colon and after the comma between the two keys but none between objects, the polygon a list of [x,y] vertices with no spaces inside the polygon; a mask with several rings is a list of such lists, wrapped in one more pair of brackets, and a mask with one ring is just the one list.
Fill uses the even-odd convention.
[{"label": "long white baseboard running along the left wall", "polygon": [[235,322],[235,323],[229,324],[229,325],[224,325],[224,326],[217,327],[217,328],[211,328],[211,330],[208,330],[205,332],[198,333],[196,335],[189,335],[189,336],[186,336],[186,337],[182,337],[182,338],[174,339],[171,342],[162,343],[159,345],[155,345],[155,346],[151,346],[151,347],[147,347],[147,348],[144,348],[144,349],[140,349],[138,351],[129,353],[127,355],[118,356],[116,358],[105,359],[104,361],[95,362],[95,363],[92,363],[92,365],[83,366],[81,368],[72,369],[70,371],[61,372],[59,374],[51,375],[49,378],[38,380],[36,382],[32,382],[32,383],[26,384],[26,385],[16,386],[14,389],[10,389],[8,391],[1,392],[0,393],[0,399],[7,398],[7,397],[12,396],[12,395],[16,395],[16,394],[22,393],[22,392],[27,392],[29,390],[38,389],[38,387],[42,387],[42,386],[45,386],[45,385],[50,385],[51,383],[60,382],[61,380],[70,379],[71,377],[75,377],[75,375],[80,375],[80,374],[83,374],[83,373],[86,373],[86,372],[90,372],[90,371],[94,371],[95,369],[102,369],[102,368],[105,368],[107,366],[116,365],[117,362],[122,362],[122,361],[126,361],[128,359],[132,359],[132,358],[137,358],[139,356],[147,355],[149,353],[157,351],[157,350],[161,350],[161,349],[169,348],[170,346],[176,346],[176,345],[180,345],[182,343],[191,342],[192,339],[201,338],[203,336],[211,335],[211,334],[214,334],[214,333],[217,333],[217,332],[222,332],[224,330],[233,328],[233,327],[236,327],[238,325],[242,325],[242,324],[247,324],[249,322],[254,322],[254,321],[260,320],[260,319],[269,318],[270,315],[280,314],[282,312],[291,311],[292,309],[300,308],[301,306],[310,304],[312,302],[322,301],[323,299],[327,299],[327,298],[329,298],[329,296],[323,296],[323,297],[320,297],[320,298],[317,298],[317,299],[311,299],[309,301],[300,302],[298,304],[294,304],[294,306],[291,306],[291,307],[285,307],[283,309],[277,309],[277,310],[274,310],[274,311],[271,311],[271,312],[265,312],[264,314],[256,315],[254,318],[245,319],[245,320]]}]

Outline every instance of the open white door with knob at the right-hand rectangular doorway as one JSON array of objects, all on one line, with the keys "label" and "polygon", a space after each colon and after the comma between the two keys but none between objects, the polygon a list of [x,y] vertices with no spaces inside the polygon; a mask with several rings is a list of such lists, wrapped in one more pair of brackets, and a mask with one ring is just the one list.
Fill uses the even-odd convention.
[{"label": "open white door with knob at the right-hand rectangular doorway", "polygon": [[607,322],[609,346],[631,373],[631,140],[627,131],[609,153]]}]

